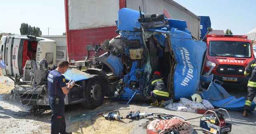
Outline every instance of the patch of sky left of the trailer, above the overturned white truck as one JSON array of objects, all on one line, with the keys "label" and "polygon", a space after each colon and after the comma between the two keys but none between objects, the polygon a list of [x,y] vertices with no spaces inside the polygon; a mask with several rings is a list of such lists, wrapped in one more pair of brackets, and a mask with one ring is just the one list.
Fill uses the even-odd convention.
[{"label": "patch of sky left of the trailer, above the overturned white truck", "polygon": [[0,32],[20,34],[20,25],[40,28],[42,35],[62,35],[64,0],[1,0]]}]

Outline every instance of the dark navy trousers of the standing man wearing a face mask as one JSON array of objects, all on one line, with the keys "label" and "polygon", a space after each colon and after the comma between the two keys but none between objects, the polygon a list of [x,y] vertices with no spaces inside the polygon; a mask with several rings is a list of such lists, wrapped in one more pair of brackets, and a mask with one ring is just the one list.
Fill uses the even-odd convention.
[{"label": "dark navy trousers of the standing man wearing a face mask", "polygon": [[64,117],[65,102],[60,99],[56,104],[54,97],[49,97],[50,108],[52,109],[51,134],[64,134],[66,132],[66,122]]}]

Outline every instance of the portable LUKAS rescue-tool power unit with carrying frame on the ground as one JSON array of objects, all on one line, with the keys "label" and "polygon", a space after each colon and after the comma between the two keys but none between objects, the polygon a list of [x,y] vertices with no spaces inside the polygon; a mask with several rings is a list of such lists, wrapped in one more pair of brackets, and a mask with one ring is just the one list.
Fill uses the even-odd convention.
[{"label": "portable LUKAS rescue-tool power unit with carrying frame on the ground", "polygon": [[213,112],[212,116],[207,116],[205,120],[202,120],[204,115],[200,118],[200,128],[206,134],[228,134],[232,129],[232,119],[229,117],[229,122],[226,122],[224,114],[219,112],[219,110],[224,110],[228,114],[228,111],[222,108],[207,110],[204,115],[210,111]]}]

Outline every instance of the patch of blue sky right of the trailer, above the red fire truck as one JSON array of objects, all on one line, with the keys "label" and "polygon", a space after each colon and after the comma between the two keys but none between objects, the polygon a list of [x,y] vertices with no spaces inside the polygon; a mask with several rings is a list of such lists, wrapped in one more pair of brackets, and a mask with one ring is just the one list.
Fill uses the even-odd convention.
[{"label": "patch of blue sky right of the trailer, above the red fire truck", "polygon": [[256,28],[256,0],[174,0],[197,16],[210,16],[213,30],[245,35]]}]

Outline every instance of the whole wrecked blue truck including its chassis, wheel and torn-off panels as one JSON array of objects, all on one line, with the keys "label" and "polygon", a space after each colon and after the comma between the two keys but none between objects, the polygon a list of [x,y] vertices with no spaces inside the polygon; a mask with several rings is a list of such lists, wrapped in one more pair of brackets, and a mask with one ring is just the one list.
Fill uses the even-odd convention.
[{"label": "whole wrecked blue truck including its chassis, wheel and torn-off panels", "polygon": [[[86,108],[93,109],[102,104],[105,96],[127,101],[149,101],[146,93],[148,81],[152,72],[162,71],[170,97],[174,100],[198,93],[216,108],[242,110],[244,97],[231,97],[218,81],[212,82],[212,76],[202,75],[206,43],[191,36],[185,21],[122,8],[118,12],[116,25],[120,35],[101,45],[106,53],[98,57],[96,68],[86,72],[70,69],[64,74],[67,81],[76,81],[66,95],[65,104],[82,103]],[[24,71],[28,69],[30,74],[43,72],[45,74],[40,75],[47,76],[50,70],[46,61],[42,59],[36,64],[27,60]],[[81,62],[87,65],[87,61]],[[34,76],[30,75],[31,81],[22,81],[22,78],[14,80],[13,101],[49,105],[46,77]],[[210,86],[202,88],[200,81]],[[255,103],[252,104],[251,109],[254,110],[255,106]]]}]

